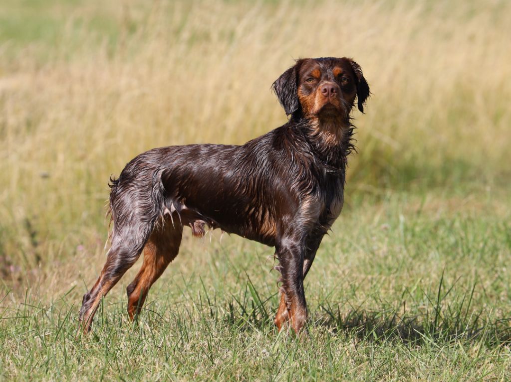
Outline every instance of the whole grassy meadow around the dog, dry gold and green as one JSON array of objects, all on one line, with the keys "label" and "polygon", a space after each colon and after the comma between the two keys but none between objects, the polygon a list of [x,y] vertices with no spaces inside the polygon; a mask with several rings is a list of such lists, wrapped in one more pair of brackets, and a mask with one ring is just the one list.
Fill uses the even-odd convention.
[{"label": "whole grassy meadow around the dog, dry gold and green", "polygon": [[[0,379],[511,379],[511,3],[4,0]],[[344,210],[277,333],[272,248],[185,232],[138,322],[126,286],[77,336],[107,245],[107,181],[147,149],[286,122],[299,57],[348,56]]]}]

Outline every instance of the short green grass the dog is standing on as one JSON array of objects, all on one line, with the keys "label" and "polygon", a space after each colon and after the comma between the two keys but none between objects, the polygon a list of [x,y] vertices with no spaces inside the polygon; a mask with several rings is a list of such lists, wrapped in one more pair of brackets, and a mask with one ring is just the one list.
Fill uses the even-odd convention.
[{"label": "short green grass the dog is standing on", "polygon": [[[272,323],[271,249],[237,237],[185,236],[139,325],[125,313],[131,272],[85,338],[76,338],[84,283],[45,302],[35,281],[25,296],[3,296],[2,376],[507,380],[511,205],[505,194],[474,195],[389,193],[350,203],[307,278],[311,319],[301,340]],[[98,270],[101,256],[91,257]]]}]

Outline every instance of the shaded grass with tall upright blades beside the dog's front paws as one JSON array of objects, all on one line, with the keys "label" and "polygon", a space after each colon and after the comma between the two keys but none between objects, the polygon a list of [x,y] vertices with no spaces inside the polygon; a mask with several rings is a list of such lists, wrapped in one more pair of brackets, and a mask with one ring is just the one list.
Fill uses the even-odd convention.
[{"label": "shaded grass with tall upright blades beside the dog's front paws", "polygon": [[[423,292],[422,297],[429,303],[416,301],[412,313],[404,309],[405,301],[393,304],[396,308],[370,311],[345,309],[346,304],[323,300],[319,303],[319,312],[310,312],[309,324],[336,335],[344,333],[366,341],[401,341],[409,345],[469,341],[486,346],[510,345],[511,317],[496,317],[493,309],[472,307],[475,284],[452,301],[444,301],[453,287],[443,292],[442,275],[436,296]],[[270,300],[273,304],[276,295],[262,300],[248,280],[243,298],[233,297],[227,302],[223,321],[239,330],[268,329],[273,326],[276,309],[276,305],[268,306]]]}]

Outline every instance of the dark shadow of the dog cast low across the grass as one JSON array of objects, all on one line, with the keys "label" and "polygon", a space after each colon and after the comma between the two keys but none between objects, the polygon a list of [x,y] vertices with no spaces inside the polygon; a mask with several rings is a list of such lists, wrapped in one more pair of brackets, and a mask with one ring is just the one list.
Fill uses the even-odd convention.
[{"label": "dark shadow of the dog cast low across the grass", "polygon": [[[364,341],[400,341],[408,345],[426,343],[452,343],[455,341],[482,342],[486,346],[511,345],[511,318],[483,318],[484,312],[472,313],[470,318],[435,314],[400,315],[398,312],[341,310],[338,305],[321,305],[322,312],[311,312],[314,317],[309,325],[327,330],[334,335],[344,333]],[[250,301],[241,306],[237,301],[229,301],[223,321],[236,326],[238,330],[249,332],[253,328],[266,330],[273,326],[273,317],[264,314],[258,304]],[[266,311],[266,310],[265,310]]]}]

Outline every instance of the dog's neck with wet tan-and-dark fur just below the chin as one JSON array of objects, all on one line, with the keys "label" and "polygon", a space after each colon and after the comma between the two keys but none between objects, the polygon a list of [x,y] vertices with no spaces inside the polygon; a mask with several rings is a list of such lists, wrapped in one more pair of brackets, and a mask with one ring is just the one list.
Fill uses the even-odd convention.
[{"label": "dog's neck with wet tan-and-dark fur just below the chin", "polygon": [[304,119],[305,134],[318,159],[329,167],[345,169],[347,156],[354,149],[354,126],[349,119]]}]

